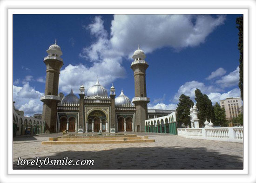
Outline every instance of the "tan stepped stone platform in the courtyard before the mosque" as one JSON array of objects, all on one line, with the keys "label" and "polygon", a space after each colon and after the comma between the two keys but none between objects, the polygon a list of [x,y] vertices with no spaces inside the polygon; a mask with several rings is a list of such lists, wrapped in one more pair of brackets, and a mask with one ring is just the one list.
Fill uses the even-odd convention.
[{"label": "tan stepped stone platform in the courtyard before the mosque", "polygon": [[68,144],[122,144],[122,143],[145,143],[155,142],[155,139],[148,139],[147,136],[135,134],[74,134],[60,137],[50,137],[49,141],[42,142],[42,145],[68,145]]}]

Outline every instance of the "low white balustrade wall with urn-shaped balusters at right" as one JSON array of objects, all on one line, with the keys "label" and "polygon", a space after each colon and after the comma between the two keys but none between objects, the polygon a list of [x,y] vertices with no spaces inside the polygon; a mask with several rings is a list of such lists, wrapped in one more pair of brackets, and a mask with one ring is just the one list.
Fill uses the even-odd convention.
[{"label": "low white balustrade wall with urn-shaped balusters at right", "polygon": [[178,128],[178,135],[189,139],[243,143],[243,127]]}]

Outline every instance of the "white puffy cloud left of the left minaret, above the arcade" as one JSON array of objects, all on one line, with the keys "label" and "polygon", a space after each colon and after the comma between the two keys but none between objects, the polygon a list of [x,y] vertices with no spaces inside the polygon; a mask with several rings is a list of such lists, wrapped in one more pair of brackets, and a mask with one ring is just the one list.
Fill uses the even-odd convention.
[{"label": "white puffy cloud left of the left minaret, above the arcade", "polygon": [[13,85],[13,101],[15,101],[15,107],[23,110],[25,116],[42,113],[43,103],[40,101],[41,95],[43,94],[29,86],[29,82],[22,87]]}]

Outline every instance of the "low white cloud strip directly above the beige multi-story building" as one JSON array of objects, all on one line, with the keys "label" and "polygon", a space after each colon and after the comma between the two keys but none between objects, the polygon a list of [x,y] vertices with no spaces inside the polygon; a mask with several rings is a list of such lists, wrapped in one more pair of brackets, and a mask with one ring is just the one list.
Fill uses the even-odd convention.
[{"label": "low white cloud strip directly above the beige multi-story building", "polygon": [[221,100],[224,100],[229,97],[240,97],[240,89],[239,88],[234,88],[230,90],[227,93],[210,93],[208,95],[209,99],[212,101],[213,105]]}]

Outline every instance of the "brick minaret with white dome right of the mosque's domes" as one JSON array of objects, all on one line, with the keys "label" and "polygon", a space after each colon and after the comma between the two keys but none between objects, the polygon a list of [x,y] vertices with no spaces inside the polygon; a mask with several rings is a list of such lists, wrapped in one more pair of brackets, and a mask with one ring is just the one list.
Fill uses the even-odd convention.
[{"label": "brick minaret with white dome right of the mosque's domes", "polygon": [[135,81],[135,97],[132,99],[136,107],[135,132],[145,132],[145,120],[148,119],[148,102],[150,99],[147,97],[146,91],[148,63],[145,58],[144,51],[138,46],[138,50],[135,50],[133,54],[134,61],[131,64]]}]

